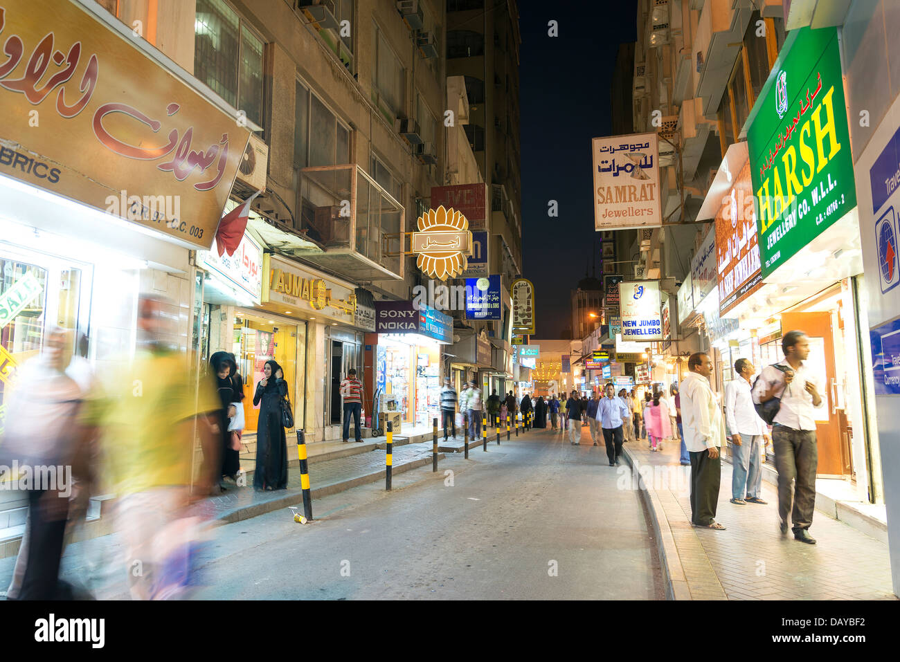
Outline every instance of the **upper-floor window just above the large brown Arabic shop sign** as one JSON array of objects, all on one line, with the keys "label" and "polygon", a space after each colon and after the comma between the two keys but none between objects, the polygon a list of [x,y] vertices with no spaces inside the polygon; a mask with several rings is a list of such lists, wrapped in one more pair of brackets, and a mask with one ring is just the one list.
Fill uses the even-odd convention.
[{"label": "upper-floor window just above the large brown Arabic shop sign", "polygon": [[264,42],[224,0],[197,0],[193,76],[262,124]]}]

